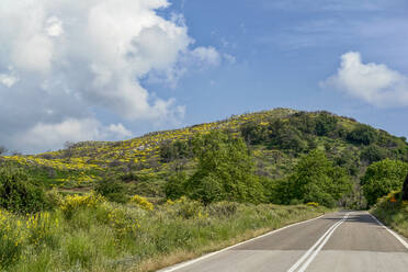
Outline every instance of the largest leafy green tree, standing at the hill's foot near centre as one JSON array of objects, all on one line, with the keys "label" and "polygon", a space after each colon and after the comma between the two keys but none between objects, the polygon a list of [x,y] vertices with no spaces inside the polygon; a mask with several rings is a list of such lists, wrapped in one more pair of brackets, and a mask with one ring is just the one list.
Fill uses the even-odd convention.
[{"label": "largest leafy green tree, standing at the hill's foot near centre", "polygon": [[195,137],[193,148],[199,166],[186,183],[192,199],[205,204],[263,201],[262,185],[253,174],[253,162],[242,138],[213,131]]}]

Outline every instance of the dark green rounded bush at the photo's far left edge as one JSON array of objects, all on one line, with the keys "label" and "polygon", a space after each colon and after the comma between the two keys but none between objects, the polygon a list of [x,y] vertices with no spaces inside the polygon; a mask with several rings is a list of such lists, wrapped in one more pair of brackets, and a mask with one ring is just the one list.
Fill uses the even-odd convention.
[{"label": "dark green rounded bush at the photo's far left edge", "polygon": [[0,168],[0,206],[15,213],[34,213],[47,207],[42,188],[32,183],[22,169]]}]

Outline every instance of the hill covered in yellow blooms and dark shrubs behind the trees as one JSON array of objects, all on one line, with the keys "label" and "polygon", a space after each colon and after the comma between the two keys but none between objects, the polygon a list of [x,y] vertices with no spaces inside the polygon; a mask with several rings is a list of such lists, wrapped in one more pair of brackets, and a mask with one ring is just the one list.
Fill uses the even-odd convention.
[{"label": "hill covered in yellow blooms and dark shrubs behind the trees", "polygon": [[88,191],[99,180],[115,179],[124,181],[133,194],[163,196],[163,184],[174,171],[189,173],[195,167],[189,139],[213,129],[242,136],[257,174],[270,179],[287,175],[302,154],[316,148],[347,169],[356,186],[371,162],[385,158],[408,160],[404,137],[328,112],[290,109],[236,115],[124,141],[77,143],[58,151],[4,156],[1,160],[23,166],[38,182],[61,191]]}]

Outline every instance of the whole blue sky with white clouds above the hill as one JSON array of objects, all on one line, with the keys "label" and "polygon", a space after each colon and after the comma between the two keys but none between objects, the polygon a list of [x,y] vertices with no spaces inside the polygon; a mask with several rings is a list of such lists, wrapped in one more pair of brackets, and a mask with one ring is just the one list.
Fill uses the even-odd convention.
[{"label": "whole blue sky with white clouds above the hill", "polygon": [[408,136],[405,0],[1,0],[0,145],[24,154],[326,110]]}]

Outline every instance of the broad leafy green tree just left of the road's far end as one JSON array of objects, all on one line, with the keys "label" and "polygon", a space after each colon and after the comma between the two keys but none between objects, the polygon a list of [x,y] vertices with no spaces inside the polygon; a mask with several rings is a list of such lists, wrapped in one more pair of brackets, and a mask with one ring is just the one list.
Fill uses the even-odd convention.
[{"label": "broad leafy green tree just left of the road's far end", "polygon": [[345,170],[335,167],[318,149],[302,157],[288,182],[288,199],[318,202],[326,206],[335,206],[351,190]]}]

